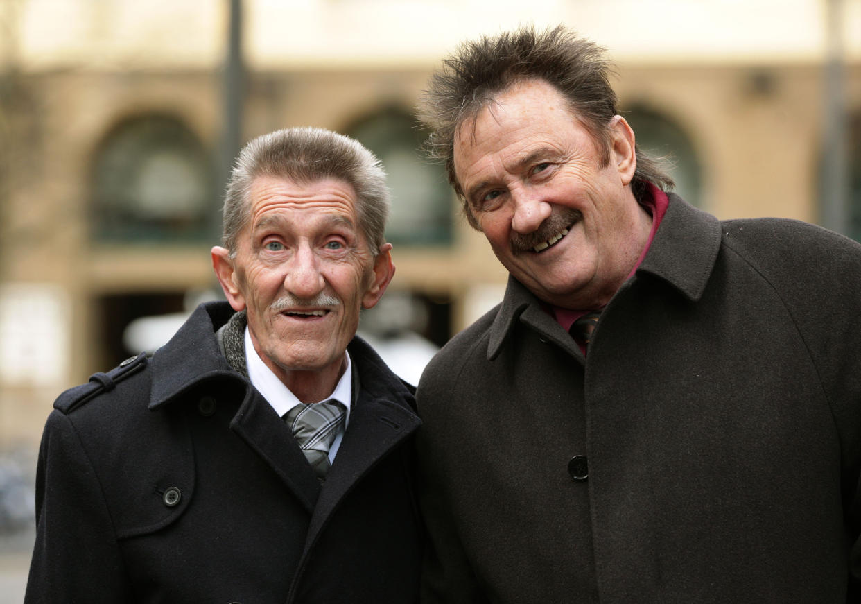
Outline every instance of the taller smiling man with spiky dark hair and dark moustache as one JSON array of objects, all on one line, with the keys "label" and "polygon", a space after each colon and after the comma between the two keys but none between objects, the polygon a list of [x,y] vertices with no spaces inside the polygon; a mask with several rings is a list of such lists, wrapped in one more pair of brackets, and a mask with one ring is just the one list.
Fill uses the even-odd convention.
[{"label": "taller smiling man with spiky dark hair and dark moustache", "polygon": [[510,277],[418,387],[424,604],[861,601],[861,246],[669,192],[566,28],[421,107]]}]

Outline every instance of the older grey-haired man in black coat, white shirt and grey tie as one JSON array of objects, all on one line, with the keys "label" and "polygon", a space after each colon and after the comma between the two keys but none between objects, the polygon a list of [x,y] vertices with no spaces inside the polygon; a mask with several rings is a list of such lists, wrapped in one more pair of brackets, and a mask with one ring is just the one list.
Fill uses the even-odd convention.
[{"label": "older grey-haired man in black coat, white shirt and grey tie", "polygon": [[412,387],[356,327],[394,272],[385,174],[340,134],[252,140],[226,302],[66,391],[40,449],[27,602],[412,602]]}]

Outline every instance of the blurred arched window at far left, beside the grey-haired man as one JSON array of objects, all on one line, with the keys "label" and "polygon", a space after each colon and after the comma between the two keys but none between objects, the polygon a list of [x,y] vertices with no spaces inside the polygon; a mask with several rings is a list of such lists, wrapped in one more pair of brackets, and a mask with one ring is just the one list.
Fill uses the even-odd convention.
[{"label": "blurred arched window at far left, beside the grey-haired man", "polygon": [[93,166],[97,240],[200,240],[213,229],[207,151],[175,118],[148,115],[108,134]]}]

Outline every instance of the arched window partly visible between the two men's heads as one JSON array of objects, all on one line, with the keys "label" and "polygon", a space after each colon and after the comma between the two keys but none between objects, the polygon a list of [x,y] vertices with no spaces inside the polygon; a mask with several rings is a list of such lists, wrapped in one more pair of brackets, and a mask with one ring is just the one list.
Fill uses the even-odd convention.
[{"label": "arched window partly visible between the two men's heads", "polygon": [[443,166],[422,158],[418,150],[425,137],[417,121],[399,109],[387,109],[357,122],[347,134],[373,151],[386,169],[392,190],[387,240],[449,243],[452,193]]}]

